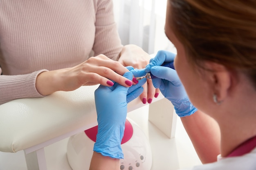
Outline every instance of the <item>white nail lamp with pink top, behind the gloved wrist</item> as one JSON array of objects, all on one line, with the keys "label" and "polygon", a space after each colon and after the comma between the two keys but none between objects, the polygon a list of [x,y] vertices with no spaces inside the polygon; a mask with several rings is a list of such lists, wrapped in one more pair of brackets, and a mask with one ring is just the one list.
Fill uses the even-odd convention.
[{"label": "white nail lamp with pink top, behind the gloved wrist", "polygon": [[[67,160],[72,170],[89,170],[97,131],[98,126],[94,126],[70,137],[67,143]],[[124,159],[120,161],[120,170],[151,169],[152,153],[148,139],[140,127],[128,118],[121,147]]]}]

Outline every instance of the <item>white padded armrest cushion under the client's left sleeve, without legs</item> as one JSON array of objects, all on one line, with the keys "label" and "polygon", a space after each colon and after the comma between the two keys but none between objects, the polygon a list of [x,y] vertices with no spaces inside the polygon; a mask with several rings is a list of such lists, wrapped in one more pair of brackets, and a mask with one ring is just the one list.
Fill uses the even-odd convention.
[{"label": "white padded armrest cushion under the client's left sleeve, without legs", "polygon": [[97,125],[94,91],[98,86],[0,105],[0,151],[17,152],[85,125]]}]

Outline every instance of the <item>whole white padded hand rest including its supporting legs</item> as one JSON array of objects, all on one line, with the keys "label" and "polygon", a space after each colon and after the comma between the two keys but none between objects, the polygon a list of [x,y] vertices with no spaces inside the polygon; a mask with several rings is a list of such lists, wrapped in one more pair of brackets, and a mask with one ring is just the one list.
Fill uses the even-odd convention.
[{"label": "whole white padded hand rest including its supporting legs", "polygon": [[[85,86],[0,105],[0,151],[24,150],[28,170],[47,170],[44,147],[97,125],[97,87]],[[142,106],[137,98],[128,104],[128,112]],[[177,117],[172,111],[172,105],[162,95],[153,99],[149,107],[149,120],[168,137],[175,135]]]}]

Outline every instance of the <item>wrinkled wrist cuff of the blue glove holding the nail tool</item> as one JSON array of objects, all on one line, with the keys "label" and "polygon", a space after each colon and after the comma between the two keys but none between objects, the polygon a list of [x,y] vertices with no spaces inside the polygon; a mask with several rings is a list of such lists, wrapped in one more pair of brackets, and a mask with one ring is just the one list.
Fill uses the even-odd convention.
[{"label": "wrinkled wrist cuff of the blue glove holding the nail tool", "polygon": [[191,102],[187,98],[171,102],[174,106],[176,114],[179,117],[190,116],[198,110],[191,104]]}]

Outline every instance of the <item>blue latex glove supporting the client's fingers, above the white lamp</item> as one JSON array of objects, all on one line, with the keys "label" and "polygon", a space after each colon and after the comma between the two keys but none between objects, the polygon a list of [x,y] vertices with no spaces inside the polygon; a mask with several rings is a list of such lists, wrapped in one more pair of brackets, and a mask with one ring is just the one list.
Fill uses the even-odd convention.
[{"label": "blue latex glove supporting the client's fingers, above the white lamp", "polygon": [[[126,78],[132,80],[132,73],[126,72]],[[97,110],[98,133],[93,150],[117,159],[123,159],[121,140],[124,136],[127,115],[127,103],[137,98],[143,92],[145,81],[137,85],[124,87],[114,83],[112,87],[100,85],[96,89],[95,104]]]}]

